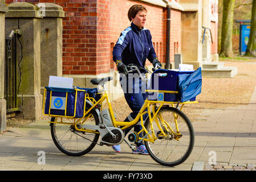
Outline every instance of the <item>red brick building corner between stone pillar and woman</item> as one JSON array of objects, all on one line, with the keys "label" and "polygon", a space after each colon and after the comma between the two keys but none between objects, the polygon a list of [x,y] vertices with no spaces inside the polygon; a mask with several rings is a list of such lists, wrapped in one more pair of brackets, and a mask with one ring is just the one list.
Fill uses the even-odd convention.
[{"label": "red brick building corner between stone pillar and woman", "polygon": [[63,21],[63,76],[73,77],[76,86],[93,87],[91,78],[108,76],[110,71],[110,0],[68,1]]}]

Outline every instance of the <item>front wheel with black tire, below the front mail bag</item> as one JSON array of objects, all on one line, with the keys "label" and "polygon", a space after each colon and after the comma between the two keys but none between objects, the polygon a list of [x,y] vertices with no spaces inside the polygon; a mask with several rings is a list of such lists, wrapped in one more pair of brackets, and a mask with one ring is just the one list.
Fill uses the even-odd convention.
[{"label": "front wheel with black tire, below the front mail bag", "polygon": [[[162,166],[177,166],[178,164],[181,164],[186,159],[188,159],[189,155],[191,154],[191,152],[193,150],[193,146],[194,146],[193,126],[192,126],[192,123],[190,122],[189,118],[181,110],[178,110],[174,107],[162,107],[159,110],[159,113],[157,114],[157,118],[159,117],[160,114],[163,114],[163,113],[169,113],[169,114],[167,114],[168,121],[166,120],[169,123],[169,125],[172,124],[170,122],[173,122],[173,124],[174,124],[174,117],[173,117],[173,119],[170,117],[172,117],[172,115],[174,115],[174,114],[178,115],[178,122],[177,122],[178,129],[179,129],[182,137],[180,139],[178,139],[178,141],[172,137],[169,137],[169,139],[164,138],[164,137],[158,137],[155,142],[152,143],[149,141],[144,141],[144,144],[145,144],[145,147],[146,147],[149,155],[151,156],[151,158],[153,160],[155,160],[157,163],[161,164]],[[151,115],[153,115],[153,114],[151,114]],[[152,122],[152,125],[154,125],[154,123],[155,123],[155,127],[154,127],[155,134],[157,134],[157,132],[161,133],[159,128],[156,126],[155,120]],[[185,126],[184,126],[184,128],[181,128],[180,126],[182,124],[184,124],[186,126],[186,128],[185,128]],[[150,127],[150,122],[149,122],[149,118],[147,118],[147,120],[145,121],[145,128],[148,131],[150,131],[149,127]],[[175,127],[172,127],[172,129],[173,130],[175,129],[174,132],[176,132]],[[166,132],[166,130],[165,130],[165,132]],[[144,132],[144,135],[145,135],[145,132]],[[178,146],[179,143],[181,143],[181,146]],[[167,147],[167,144],[170,144],[170,145]],[[174,146],[174,144],[176,144],[176,146]],[[187,146],[186,146],[186,144],[187,144]],[[155,146],[159,147],[159,148],[156,148]],[[175,153],[176,151],[174,151],[176,148],[177,148],[177,152],[181,152],[182,150],[184,150],[184,154],[182,154],[181,156],[177,155]],[[169,150],[171,150],[170,153],[169,153]],[[164,156],[165,156],[164,152],[167,155],[166,159],[164,159]],[[161,158],[160,154],[162,155],[162,158]],[[177,159],[174,159],[175,155],[178,156]]]}]

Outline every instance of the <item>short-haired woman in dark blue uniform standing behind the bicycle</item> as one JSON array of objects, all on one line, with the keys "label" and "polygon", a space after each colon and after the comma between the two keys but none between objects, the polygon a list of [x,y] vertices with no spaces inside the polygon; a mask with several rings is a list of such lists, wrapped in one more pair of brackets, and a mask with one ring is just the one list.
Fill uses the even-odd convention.
[{"label": "short-haired woman in dark blue uniform standing behind the bicycle", "polygon": [[[120,38],[117,40],[117,43],[113,48],[113,61],[115,61],[117,70],[120,73],[120,82],[124,91],[124,97],[132,110],[132,113],[124,122],[129,122],[135,119],[147,98],[147,93],[144,92],[145,90],[141,89],[145,88],[146,83],[137,79],[132,81],[133,78],[129,79],[132,75],[127,75],[127,65],[135,64],[144,68],[145,62],[148,59],[153,64],[153,67],[155,67],[156,64],[159,64],[160,67],[162,66],[157,59],[155,49],[153,48],[151,33],[149,30],[144,28],[146,16],[147,10],[145,7],[141,5],[133,5],[128,11],[128,18],[130,22],[132,22],[131,26],[121,32]],[[141,69],[141,72],[145,73],[145,70]],[[123,77],[122,73],[125,74],[125,81],[122,81],[121,79]],[[124,82],[126,82],[128,90],[127,86],[124,86]],[[135,92],[138,88],[139,93]],[[134,130],[139,132],[141,129],[142,127],[140,126],[140,122],[138,122],[135,125]],[[131,129],[125,130],[125,135],[129,130]],[[133,154],[148,155],[148,152],[142,143],[136,143],[136,146],[136,150],[132,151]],[[120,145],[112,147],[117,152],[121,151]]]}]

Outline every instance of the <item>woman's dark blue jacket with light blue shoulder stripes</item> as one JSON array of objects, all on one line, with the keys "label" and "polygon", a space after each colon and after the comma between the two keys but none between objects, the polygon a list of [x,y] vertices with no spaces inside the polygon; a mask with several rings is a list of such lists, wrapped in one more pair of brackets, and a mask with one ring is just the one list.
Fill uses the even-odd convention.
[{"label": "woman's dark blue jacket with light blue shoulder stripes", "polygon": [[156,57],[150,31],[133,23],[121,32],[113,48],[113,61],[121,60],[125,65],[136,64],[144,68],[147,59],[152,62]]}]

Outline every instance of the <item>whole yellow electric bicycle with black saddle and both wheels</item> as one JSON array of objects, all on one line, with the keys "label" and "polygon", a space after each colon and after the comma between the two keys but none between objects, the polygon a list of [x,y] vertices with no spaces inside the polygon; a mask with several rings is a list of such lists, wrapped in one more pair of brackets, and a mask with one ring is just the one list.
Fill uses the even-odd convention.
[{"label": "whole yellow electric bicycle with black saddle and both wheels", "polygon": [[[116,121],[108,92],[105,89],[105,83],[110,80],[112,77],[91,80],[92,84],[103,87],[96,93],[97,98],[92,97],[92,94],[89,93],[90,90],[74,89],[74,113],[79,107],[76,103],[79,97],[78,92],[85,94],[84,105],[81,106],[83,115],[80,117],[75,117],[75,114],[67,115],[68,93],[66,100],[63,101],[66,101],[64,114],[54,114],[54,110],[51,109],[51,102],[54,102],[52,100],[54,91],[44,89],[43,113],[52,117],[50,121],[51,135],[56,147],[64,154],[81,156],[90,152],[96,144],[112,146],[124,141],[132,150],[135,150],[135,144],[129,142],[144,141],[149,155],[157,163],[163,166],[176,166],[184,162],[193,150],[194,130],[189,118],[181,109],[185,104],[197,103],[197,101],[180,103],[145,100],[139,114],[133,121],[120,122]],[[166,90],[147,90],[147,92],[177,93],[177,91]],[[45,100],[46,94],[49,95],[50,104],[48,105]],[[107,102],[108,109],[103,110],[101,108],[103,101]],[[177,109],[174,104],[177,106],[181,104],[182,106]],[[45,109],[48,110],[48,113]],[[143,121],[145,114],[148,114],[148,117]],[[128,142],[125,139],[124,130],[133,127],[137,122],[141,122],[143,129],[139,133],[129,134]],[[139,137],[139,134],[142,134],[142,137]],[[101,139],[98,143],[100,136]]]}]

